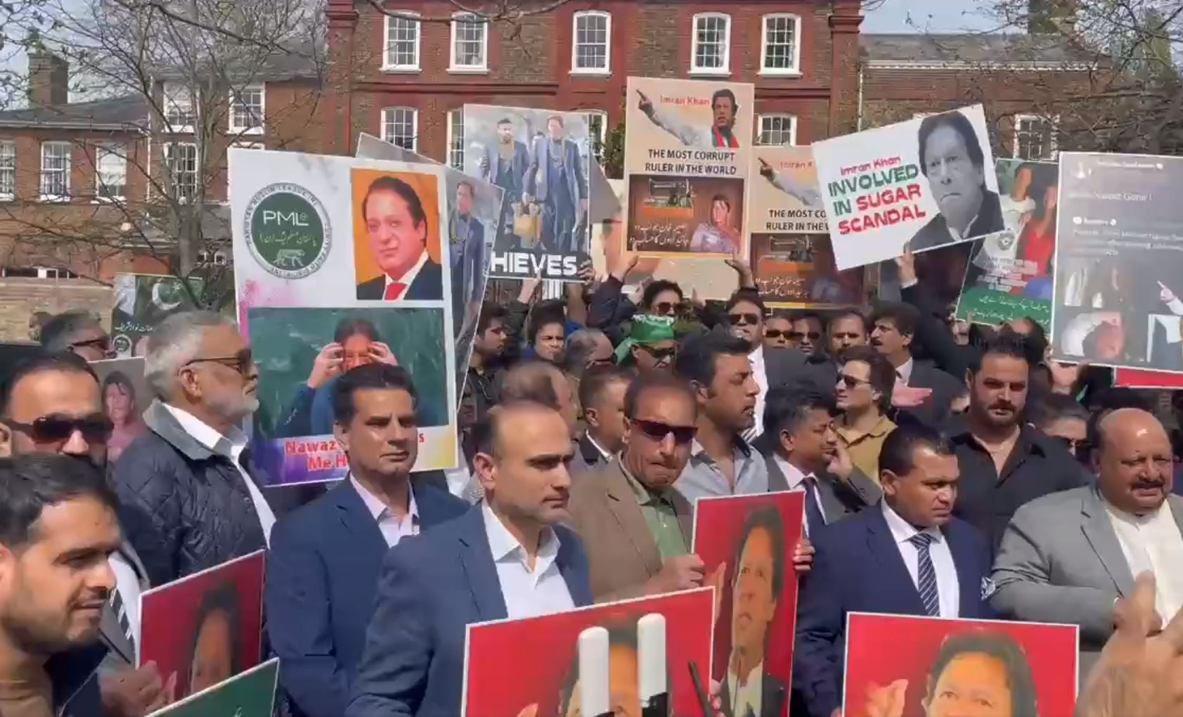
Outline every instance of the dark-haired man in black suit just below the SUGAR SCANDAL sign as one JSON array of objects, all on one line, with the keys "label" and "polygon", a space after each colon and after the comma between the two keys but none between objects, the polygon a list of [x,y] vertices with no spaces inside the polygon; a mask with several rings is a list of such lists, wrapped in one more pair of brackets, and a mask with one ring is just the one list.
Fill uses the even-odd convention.
[{"label": "dark-haired man in black suit just below the SUGAR SCANDAL sign", "polygon": [[896,367],[892,405],[906,418],[939,426],[949,418],[950,406],[964,392],[964,385],[931,361],[912,358],[912,338],[919,318],[911,304],[879,304],[871,315],[871,345]]}]

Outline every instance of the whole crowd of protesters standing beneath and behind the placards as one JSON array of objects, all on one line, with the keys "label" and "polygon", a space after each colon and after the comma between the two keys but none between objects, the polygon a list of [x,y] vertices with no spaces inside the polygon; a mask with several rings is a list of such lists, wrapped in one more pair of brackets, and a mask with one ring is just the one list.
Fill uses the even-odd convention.
[{"label": "whole crowd of protesters standing beneath and behind the placards", "polygon": [[[633,264],[483,306],[455,470],[411,473],[414,376],[330,361],[329,486],[258,480],[258,368],[206,312],[154,328],[146,429],[108,464],[110,338],[46,318],[0,390],[0,713],[169,703],[140,594],[266,548],[285,715],[458,715],[466,625],[717,586],[694,500],[780,490],[806,497],[791,715],[840,713],[851,612],[1075,624],[1081,715],[1183,713],[1178,438],[1142,394],[1048,361],[1034,319],[957,325],[910,256],[901,302],[828,312],[769,311],[742,261],[726,302],[626,296]],[[769,713],[744,680],[722,713]]]}]

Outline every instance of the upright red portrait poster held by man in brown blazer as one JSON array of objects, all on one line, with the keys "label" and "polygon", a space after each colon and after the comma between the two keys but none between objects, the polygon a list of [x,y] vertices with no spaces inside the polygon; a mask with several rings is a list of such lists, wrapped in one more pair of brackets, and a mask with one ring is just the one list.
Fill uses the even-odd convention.
[{"label": "upright red portrait poster held by man in brown blazer", "polygon": [[[745,713],[756,693],[757,717],[788,713],[797,615],[793,553],[803,523],[803,491],[699,498],[694,505],[693,553],[709,583],[722,586],[711,678],[729,715]],[[735,687],[749,683],[759,690]]]}]

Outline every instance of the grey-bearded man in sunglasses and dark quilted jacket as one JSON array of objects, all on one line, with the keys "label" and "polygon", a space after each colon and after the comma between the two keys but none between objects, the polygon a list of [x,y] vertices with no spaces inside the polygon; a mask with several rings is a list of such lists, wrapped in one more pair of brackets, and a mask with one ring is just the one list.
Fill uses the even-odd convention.
[{"label": "grey-bearded man in sunglasses and dark quilted jacket", "polygon": [[259,407],[259,372],[228,318],[174,314],[148,340],[157,400],[150,429],[115,465],[128,540],[154,584],[267,545],[276,515],[252,476],[239,428]]}]

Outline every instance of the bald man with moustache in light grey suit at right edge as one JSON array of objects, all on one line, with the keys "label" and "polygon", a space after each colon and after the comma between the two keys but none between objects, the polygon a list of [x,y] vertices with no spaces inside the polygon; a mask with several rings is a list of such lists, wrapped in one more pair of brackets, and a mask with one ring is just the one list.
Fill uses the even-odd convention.
[{"label": "bald man with moustache in light grey suit at right edge", "polygon": [[1183,605],[1183,498],[1171,495],[1171,443],[1153,415],[1121,408],[1099,426],[1097,484],[1020,508],[1002,537],[990,603],[1002,616],[1080,626],[1080,674],[1113,633],[1133,576],[1155,575],[1165,624]]}]

